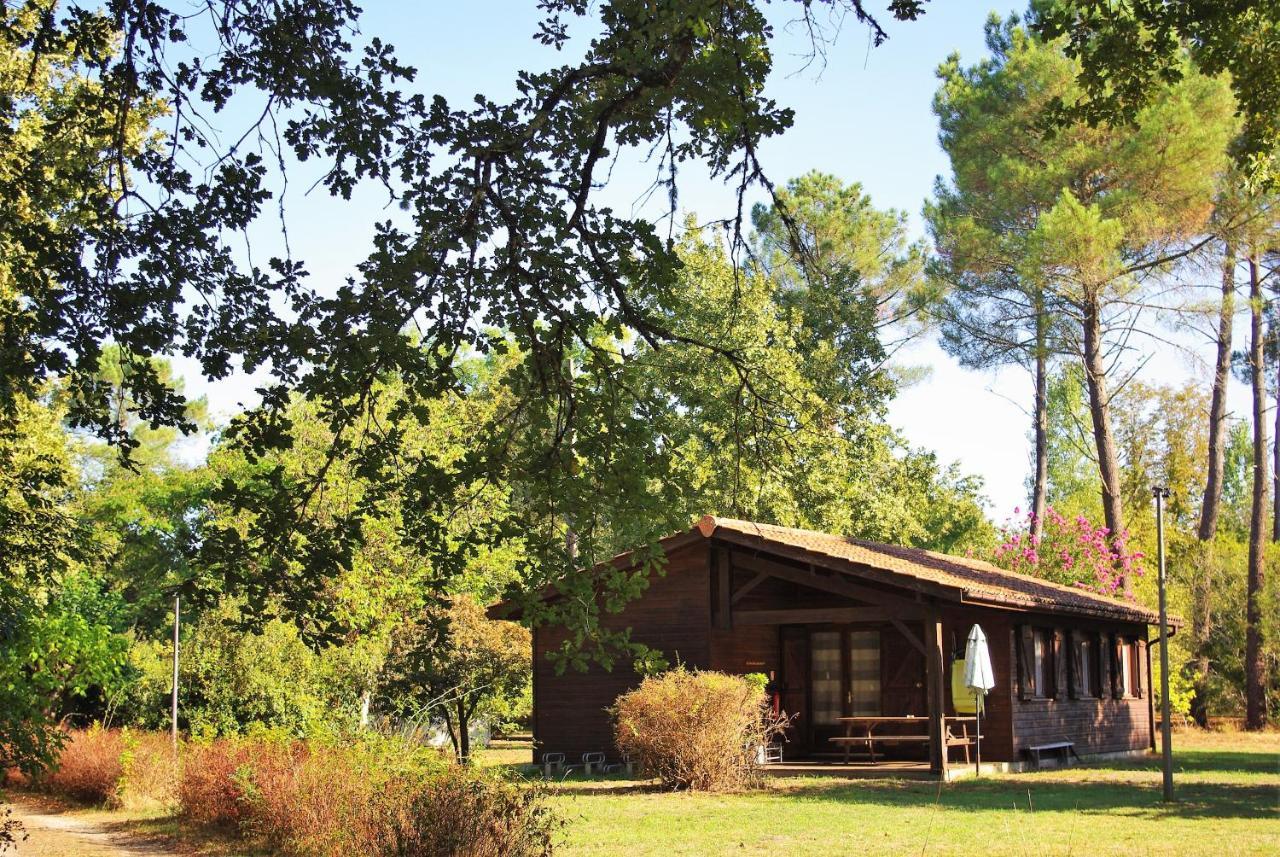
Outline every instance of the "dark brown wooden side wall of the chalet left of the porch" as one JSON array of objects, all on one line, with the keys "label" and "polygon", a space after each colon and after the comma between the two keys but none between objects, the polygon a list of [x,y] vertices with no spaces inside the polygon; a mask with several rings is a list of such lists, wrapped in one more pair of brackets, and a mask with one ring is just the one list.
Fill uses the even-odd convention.
[{"label": "dark brown wooden side wall of the chalet left of the porch", "polygon": [[[662,650],[675,664],[710,666],[707,628],[710,622],[708,542],[673,550],[666,574],[654,576],[648,591],[622,613],[607,614],[602,624],[611,631],[632,629],[632,638]],[[566,632],[559,628],[534,631],[534,760],[545,752],[562,752],[576,762],[585,752],[602,751],[617,757],[613,727],[605,709],[618,695],[639,683],[628,664],[613,672],[593,664],[585,673],[568,668],[557,674],[547,652],[559,647]]]}]

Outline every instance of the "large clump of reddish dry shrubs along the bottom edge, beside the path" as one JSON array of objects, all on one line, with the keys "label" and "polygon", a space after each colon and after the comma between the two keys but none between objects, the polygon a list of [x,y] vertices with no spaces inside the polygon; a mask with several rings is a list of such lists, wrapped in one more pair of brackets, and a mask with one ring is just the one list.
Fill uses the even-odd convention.
[{"label": "large clump of reddish dry shrubs along the bottom edge, beside the path", "polygon": [[534,787],[372,737],[195,746],[179,793],[188,824],[297,857],[522,857],[548,853],[556,828]]}]

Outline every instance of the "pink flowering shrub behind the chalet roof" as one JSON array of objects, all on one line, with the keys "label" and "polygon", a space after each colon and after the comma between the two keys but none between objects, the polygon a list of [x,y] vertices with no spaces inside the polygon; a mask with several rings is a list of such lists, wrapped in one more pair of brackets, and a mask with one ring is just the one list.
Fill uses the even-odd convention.
[{"label": "pink flowering shrub behind the chalet roof", "polygon": [[[1014,509],[1014,515],[1020,515]],[[1001,528],[1001,544],[992,559],[1011,572],[1042,577],[1055,583],[1116,595],[1125,576],[1142,576],[1142,551],[1129,550],[1129,532],[1111,539],[1106,527],[1096,527],[1084,515],[1068,518],[1052,507],[1044,509],[1041,536],[1032,535],[1034,514]]]}]

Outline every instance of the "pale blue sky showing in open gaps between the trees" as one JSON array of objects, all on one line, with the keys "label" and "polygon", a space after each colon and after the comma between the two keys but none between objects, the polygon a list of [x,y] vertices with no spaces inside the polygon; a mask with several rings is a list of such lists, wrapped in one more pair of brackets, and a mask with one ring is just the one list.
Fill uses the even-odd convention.
[{"label": "pale blue sky showing in open gaps between the trees", "polygon": [[[393,43],[402,60],[419,69],[416,88],[439,92],[460,106],[476,92],[500,101],[513,93],[517,69],[547,68],[576,55],[575,43],[562,58],[531,38],[538,20],[532,0],[372,0],[365,5],[364,35]],[[763,147],[765,169],[774,180],[819,169],[860,182],[878,207],[908,212],[913,229],[920,233],[922,203],[934,177],[948,171],[931,111],[934,69],[952,51],[966,63],[979,59],[987,14],[995,10],[1004,15],[1021,6],[933,3],[919,22],[891,24],[888,42],[874,49],[865,28],[849,19],[826,65],[805,69],[801,54],[806,41],[801,33],[786,31],[792,5],[771,6],[780,38],[769,95],[794,107],[796,122],[785,137]],[[637,169],[622,170],[617,178],[607,200],[626,211],[644,180]],[[374,188],[362,189],[351,203],[338,203],[323,191],[303,196],[308,184],[305,170],[291,177],[291,247],[296,258],[307,262],[316,285],[337,284],[367,252],[371,224],[392,215],[384,208],[385,197]],[[694,177],[682,188],[680,202],[709,220],[730,212],[731,200],[723,187]],[[273,233],[264,232],[264,239],[268,234]],[[982,476],[992,501],[989,512],[1002,521],[1024,504],[1029,379],[1018,370],[995,375],[961,370],[932,340],[910,348],[900,362],[927,366],[931,372],[897,398],[891,422],[914,445],[933,449],[943,462],[957,460],[965,472]],[[216,416],[252,403],[251,379],[237,376],[210,388],[196,377],[193,366],[178,363],[189,391],[207,393]],[[1146,377],[1158,381],[1188,375],[1206,373],[1172,350],[1156,354],[1144,370]]]}]

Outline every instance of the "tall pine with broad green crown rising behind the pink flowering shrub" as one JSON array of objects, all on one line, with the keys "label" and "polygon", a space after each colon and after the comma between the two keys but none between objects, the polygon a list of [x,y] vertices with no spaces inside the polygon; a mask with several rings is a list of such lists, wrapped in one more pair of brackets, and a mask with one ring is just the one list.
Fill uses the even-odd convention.
[{"label": "tall pine with broad green crown rising behind the pink flowering shrub", "polygon": [[1055,105],[1084,97],[1064,41],[992,17],[987,46],[988,59],[964,68],[952,55],[938,69],[934,113],[952,178],[927,207],[933,272],[947,289],[936,313],[969,365],[1080,362],[1102,513],[1119,533],[1108,376],[1143,330],[1149,283],[1208,225],[1235,133],[1231,97],[1225,82],[1188,69],[1132,123],[1055,127]]}]

